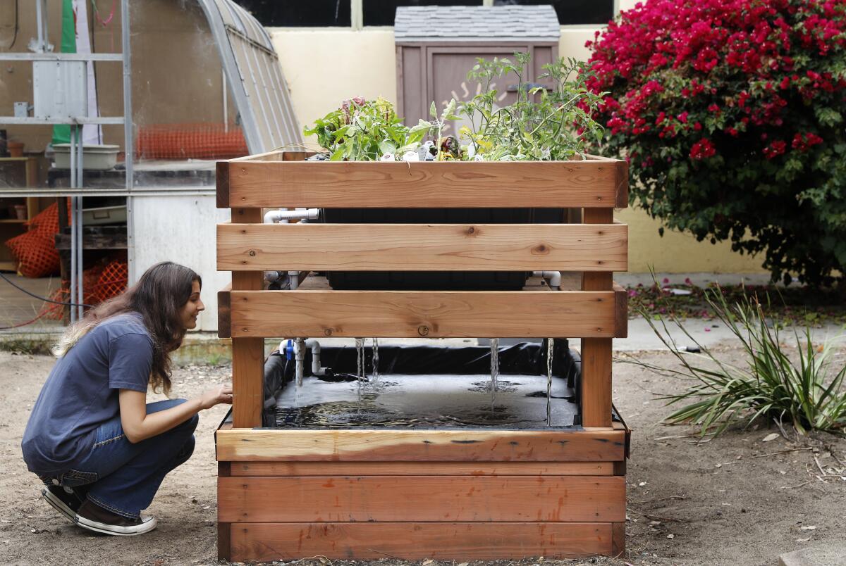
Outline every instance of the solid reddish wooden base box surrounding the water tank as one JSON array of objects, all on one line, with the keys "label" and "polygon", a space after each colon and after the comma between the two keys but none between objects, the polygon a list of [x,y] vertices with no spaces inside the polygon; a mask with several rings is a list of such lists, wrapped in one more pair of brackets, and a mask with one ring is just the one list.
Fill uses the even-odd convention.
[{"label": "solid reddish wooden base box surrounding the water tank", "polygon": [[618,556],[627,431],[217,431],[219,558]]}]

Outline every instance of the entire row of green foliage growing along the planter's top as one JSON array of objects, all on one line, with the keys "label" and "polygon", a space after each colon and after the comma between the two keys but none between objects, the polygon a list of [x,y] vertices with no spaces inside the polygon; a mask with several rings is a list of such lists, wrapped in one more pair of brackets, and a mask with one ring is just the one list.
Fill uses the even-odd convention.
[{"label": "entire row of green foliage growing along the planter's top", "polygon": [[[548,90],[526,88],[523,78],[530,56],[514,53],[514,59],[516,63],[497,57],[492,61],[478,59],[468,79],[481,82],[481,93],[460,105],[449,101],[440,113],[432,102],[430,122],[420,120],[408,128],[390,102],[382,98],[365,101],[357,96],[304,132],[317,136],[317,143],[332,161],[378,161],[388,153],[399,158],[416,150],[429,136],[435,141],[436,161],[473,159],[475,155],[485,161],[568,160],[583,150],[585,139],[601,138],[602,128],[591,115],[602,94],[587,89],[585,83],[592,76],[589,68],[574,59],[560,59],[544,65],[546,73],[538,78],[550,84]],[[492,83],[509,73],[519,80],[517,101],[499,107],[500,95],[492,89]],[[457,139],[442,135],[444,124],[460,120],[461,115],[470,120],[471,127],[459,133],[470,151],[461,150]]]}]

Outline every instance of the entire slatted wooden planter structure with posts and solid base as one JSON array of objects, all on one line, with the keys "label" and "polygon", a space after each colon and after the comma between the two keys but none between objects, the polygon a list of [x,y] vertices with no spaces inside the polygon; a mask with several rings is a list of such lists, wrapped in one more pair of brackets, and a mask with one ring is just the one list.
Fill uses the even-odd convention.
[{"label": "entire slatted wooden planter structure with posts and solid base", "polygon": [[[232,561],[619,555],[628,430],[612,421],[626,333],[624,161],[217,164],[219,332],[233,423],[217,431],[218,553]],[[263,207],[578,208],[578,224],[262,224]],[[562,270],[565,291],[265,291],[264,270]],[[579,337],[581,427],[261,428],[265,337]]]}]

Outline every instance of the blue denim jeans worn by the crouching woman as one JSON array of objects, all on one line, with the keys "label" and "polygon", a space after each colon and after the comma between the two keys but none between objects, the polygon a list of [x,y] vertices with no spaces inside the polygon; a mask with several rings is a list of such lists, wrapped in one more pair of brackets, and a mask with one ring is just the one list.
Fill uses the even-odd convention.
[{"label": "blue denim jeans worn by the crouching woman", "polygon": [[[147,404],[147,414],[184,403],[172,399]],[[64,487],[77,487],[93,503],[113,513],[135,519],[150,506],[164,476],[194,452],[196,415],[152,438],[132,444],[124,435],[120,416],[97,428],[91,451],[74,470],[63,474]],[[47,482],[47,478],[45,479]]]}]

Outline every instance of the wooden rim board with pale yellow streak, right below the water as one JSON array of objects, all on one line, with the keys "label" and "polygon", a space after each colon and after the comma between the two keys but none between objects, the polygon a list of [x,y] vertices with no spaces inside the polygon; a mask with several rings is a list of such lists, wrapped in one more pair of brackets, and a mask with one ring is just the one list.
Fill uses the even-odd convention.
[{"label": "wooden rim board with pale yellow streak, right below the water", "polygon": [[221,461],[609,462],[625,431],[269,430],[217,431]]}]

